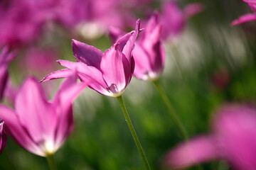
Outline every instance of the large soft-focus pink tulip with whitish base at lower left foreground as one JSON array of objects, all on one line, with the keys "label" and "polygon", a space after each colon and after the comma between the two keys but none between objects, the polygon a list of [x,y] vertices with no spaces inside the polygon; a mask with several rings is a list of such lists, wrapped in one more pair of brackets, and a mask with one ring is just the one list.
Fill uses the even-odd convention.
[{"label": "large soft-focus pink tulip with whitish base at lower left foreground", "polygon": [[85,85],[77,84],[73,74],[60,86],[53,101],[47,101],[41,84],[32,77],[26,79],[16,95],[15,110],[0,105],[6,132],[33,154],[54,154],[73,130],[71,102]]}]

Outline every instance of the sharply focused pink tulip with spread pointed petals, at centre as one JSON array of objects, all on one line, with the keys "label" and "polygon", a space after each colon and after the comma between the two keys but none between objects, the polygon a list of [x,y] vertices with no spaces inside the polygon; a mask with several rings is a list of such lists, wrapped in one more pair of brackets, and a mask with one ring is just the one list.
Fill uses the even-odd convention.
[{"label": "sharply focused pink tulip with spread pointed petals, at centre", "polygon": [[67,69],[48,74],[41,81],[67,77],[69,72],[76,69],[81,81],[92,80],[91,89],[106,96],[121,96],[134,72],[132,50],[139,33],[139,23],[138,20],[135,30],[119,38],[105,53],[95,47],[73,40],[73,54],[78,62],[58,60]]}]

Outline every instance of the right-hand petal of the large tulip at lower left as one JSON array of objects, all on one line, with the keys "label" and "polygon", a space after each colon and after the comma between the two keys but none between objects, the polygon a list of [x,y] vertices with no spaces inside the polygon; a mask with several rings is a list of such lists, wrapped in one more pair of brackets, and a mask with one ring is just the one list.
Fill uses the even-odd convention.
[{"label": "right-hand petal of the large tulip at lower left", "polygon": [[58,124],[56,127],[55,145],[62,145],[65,138],[68,137],[73,130],[73,111],[72,101],[82,89],[87,86],[87,83],[77,84],[75,72],[73,75],[65,79],[61,84],[55,98],[53,105],[57,111]]}]

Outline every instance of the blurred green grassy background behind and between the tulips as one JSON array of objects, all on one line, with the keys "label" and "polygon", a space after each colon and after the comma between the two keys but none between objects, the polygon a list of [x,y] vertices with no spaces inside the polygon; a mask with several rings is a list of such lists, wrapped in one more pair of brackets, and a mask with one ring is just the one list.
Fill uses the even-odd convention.
[{"label": "blurred green grassy background behind and between the tulips", "polygon": [[[211,131],[211,118],[221,105],[255,103],[256,23],[230,26],[235,18],[251,12],[242,1],[180,0],[179,4],[192,2],[204,4],[205,11],[188,21],[180,37],[165,43],[166,65],[159,84],[189,136],[195,137]],[[153,5],[157,8],[158,3]],[[75,61],[70,39],[57,33],[53,41],[63,59]],[[103,51],[111,45],[107,37],[86,43]],[[16,72],[14,63],[11,77],[22,81]],[[151,169],[161,169],[161,157],[183,141],[178,128],[151,82],[133,78],[123,98]],[[76,99],[73,111],[75,128],[54,155],[58,169],[144,169],[116,98],[87,88]],[[44,170],[48,164],[9,138],[0,169]],[[230,167],[225,162],[208,162],[203,169]]]}]

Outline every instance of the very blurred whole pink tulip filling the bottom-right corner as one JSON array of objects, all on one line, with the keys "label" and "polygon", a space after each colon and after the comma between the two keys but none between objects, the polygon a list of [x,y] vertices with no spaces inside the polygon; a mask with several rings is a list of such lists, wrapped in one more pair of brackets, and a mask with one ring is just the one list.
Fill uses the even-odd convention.
[{"label": "very blurred whole pink tulip filling the bottom-right corner", "polygon": [[229,105],[213,121],[211,135],[196,137],[169,152],[164,164],[182,169],[210,159],[225,159],[235,169],[256,169],[256,109]]}]

